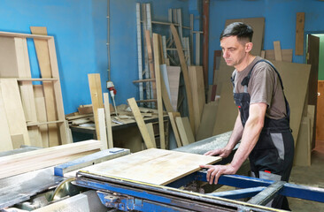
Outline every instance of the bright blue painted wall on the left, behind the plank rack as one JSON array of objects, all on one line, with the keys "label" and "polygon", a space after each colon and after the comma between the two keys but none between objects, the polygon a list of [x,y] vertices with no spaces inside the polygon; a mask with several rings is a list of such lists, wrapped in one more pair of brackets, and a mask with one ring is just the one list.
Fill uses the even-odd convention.
[{"label": "bright blue painted wall on the left, behind the plank rack", "polygon": [[[138,98],[135,3],[148,1],[111,0],[111,79],[117,88],[116,103]],[[182,9],[182,22],[189,27],[189,1],[150,1],[152,19],[167,21],[168,8]],[[100,73],[107,92],[107,1],[106,0],[0,0],[0,31],[30,33],[29,27],[47,27],[58,54],[66,114],[80,104],[91,103],[88,73]],[[153,27],[167,34],[169,27]],[[188,32],[185,32],[188,34]],[[32,74],[39,76],[34,43],[28,41]]]}]

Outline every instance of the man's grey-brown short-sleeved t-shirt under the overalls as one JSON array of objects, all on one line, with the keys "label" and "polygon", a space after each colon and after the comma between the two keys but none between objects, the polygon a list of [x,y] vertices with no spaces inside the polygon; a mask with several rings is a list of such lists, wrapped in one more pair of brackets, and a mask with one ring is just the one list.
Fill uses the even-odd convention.
[{"label": "man's grey-brown short-sleeved t-shirt under the overalls", "polygon": [[[242,72],[233,72],[235,75],[235,93],[243,93],[242,80],[248,75],[252,66],[262,57],[256,57]],[[286,103],[284,101],[282,85],[278,74],[273,67],[266,62],[256,64],[251,72],[251,79],[248,85],[248,93],[252,103],[266,103],[266,117],[280,119],[287,116]]]}]

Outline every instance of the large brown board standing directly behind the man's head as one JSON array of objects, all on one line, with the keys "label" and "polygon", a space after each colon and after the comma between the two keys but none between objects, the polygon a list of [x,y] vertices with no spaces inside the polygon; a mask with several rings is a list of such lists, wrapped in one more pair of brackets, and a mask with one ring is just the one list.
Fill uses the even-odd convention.
[{"label": "large brown board standing directly behind the man's head", "polygon": [[[261,50],[263,47],[263,36],[265,31],[265,18],[251,18],[251,19],[228,19],[225,23],[225,26],[228,26],[234,22],[243,22],[253,29],[253,49],[251,50],[251,54],[255,56],[261,55]],[[229,79],[231,77],[232,72],[234,71],[234,67],[230,67],[226,64],[223,58],[220,59],[220,71],[215,74],[216,85],[219,87],[217,89],[217,95],[220,95],[221,87],[223,83],[230,83]]]}]

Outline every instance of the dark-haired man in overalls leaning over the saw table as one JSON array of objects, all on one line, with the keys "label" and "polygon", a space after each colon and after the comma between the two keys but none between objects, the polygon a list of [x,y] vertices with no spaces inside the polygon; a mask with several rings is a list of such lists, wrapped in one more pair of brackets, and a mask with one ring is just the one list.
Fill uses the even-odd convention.
[{"label": "dark-haired man in overalls leaning over the saw table", "polygon": [[[227,157],[241,140],[231,163],[201,165],[207,181],[218,183],[222,174],[235,174],[249,156],[253,177],[288,181],[294,158],[294,140],[289,128],[289,104],[282,79],[273,64],[251,55],[253,30],[241,22],[230,24],[220,34],[220,47],[232,74],[238,116],[225,148],[204,155]],[[288,201],[277,196],[269,205],[286,208]]]}]

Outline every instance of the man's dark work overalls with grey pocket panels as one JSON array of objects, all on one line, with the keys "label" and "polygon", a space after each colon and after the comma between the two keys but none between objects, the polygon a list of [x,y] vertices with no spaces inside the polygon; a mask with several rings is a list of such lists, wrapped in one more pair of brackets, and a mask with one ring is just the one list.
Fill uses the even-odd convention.
[{"label": "man's dark work overalls with grey pocket panels", "polygon": [[[273,67],[282,85],[282,79],[279,72],[274,68],[274,65],[266,60],[259,60],[256,64],[260,62],[267,63]],[[248,93],[248,85],[251,78],[251,72],[256,64],[252,66],[249,74],[241,82],[241,85],[244,87],[244,92],[234,93],[235,104],[240,110],[243,126],[249,117],[251,97]],[[235,76],[231,79],[235,92],[234,79]],[[289,127],[289,103],[286,97],[284,97],[284,99],[286,102],[287,117],[282,117],[279,120],[265,117],[264,127],[259,135],[258,142],[249,155],[252,176],[257,178],[282,181],[289,180],[294,159],[294,139]],[[274,201],[269,202],[267,206],[289,209],[288,201],[286,197],[283,196],[277,196],[274,198]]]}]

